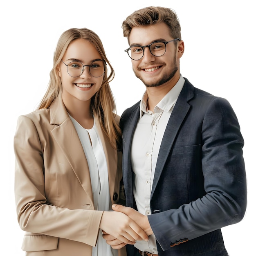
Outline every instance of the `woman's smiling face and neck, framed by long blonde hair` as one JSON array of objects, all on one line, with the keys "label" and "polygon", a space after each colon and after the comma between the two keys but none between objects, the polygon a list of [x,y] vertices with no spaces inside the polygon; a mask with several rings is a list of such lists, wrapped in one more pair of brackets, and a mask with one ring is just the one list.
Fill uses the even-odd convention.
[{"label": "woman's smiling face and neck, framed by long blonde hair", "polygon": [[[92,128],[91,99],[101,88],[104,78],[105,65],[101,58],[90,41],[79,38],[70,43],[57,67],[65,108],[83,128]],[[78,59],[79,62],[73,61]]]}]

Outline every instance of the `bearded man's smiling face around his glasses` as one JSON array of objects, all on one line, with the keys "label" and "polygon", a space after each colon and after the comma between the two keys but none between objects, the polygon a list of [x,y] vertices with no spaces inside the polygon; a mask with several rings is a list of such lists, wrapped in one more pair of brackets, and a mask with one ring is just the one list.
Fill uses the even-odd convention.
[{"label": "bearded man's smiling face around his glasses", "polygon": [[[158,23],[150,26],[133,27],[129,35],[129,43],[132,45],[149,45],[155,41],[170,41],[175,38],[170,36],[168,26],[164,23]],[[179,45],[183,46],[182,41],[176,41],[166,44],[166,52],[162,56],[154,56],[150,53],[148,47],[144,48],[144,56],[138,60],[132,60],[132,69],[135,76],[139,78],[146,87],[156,87],[168,83],[171,80],[178,80],[180,77]],[[177,81],[176,81],[177,82]]]}]

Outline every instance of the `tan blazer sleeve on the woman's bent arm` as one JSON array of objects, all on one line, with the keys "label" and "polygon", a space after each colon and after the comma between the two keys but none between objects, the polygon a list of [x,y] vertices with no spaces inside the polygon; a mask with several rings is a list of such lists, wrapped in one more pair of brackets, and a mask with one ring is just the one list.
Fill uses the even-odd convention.
[{"label": "tan blazer sleeve on the woman's bent arm", "polygon": [[14,152],[15,200],[20,228],[95,246],[103,211],[68,209],[47,202],[40,139],[34,122],[27,116],[19,117]]}]

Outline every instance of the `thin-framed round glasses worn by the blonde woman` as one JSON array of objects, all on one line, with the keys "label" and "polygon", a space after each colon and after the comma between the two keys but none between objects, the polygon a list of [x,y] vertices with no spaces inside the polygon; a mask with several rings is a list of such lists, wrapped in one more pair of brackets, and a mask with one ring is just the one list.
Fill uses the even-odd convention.
[{"label": "thin-framed round glasses worn by the blonde woman", "polygon": [[103,60],[95,60],[90,65],[83,65],[80,61],[71,61],[66,64],[63,60],[61,60],[67,66],[67,74],[72,77],[78,77],[83,74],[84,67],[89,67],[89,72],[94,77],[100,77],[104,74],[106,70],[107,63]]}]

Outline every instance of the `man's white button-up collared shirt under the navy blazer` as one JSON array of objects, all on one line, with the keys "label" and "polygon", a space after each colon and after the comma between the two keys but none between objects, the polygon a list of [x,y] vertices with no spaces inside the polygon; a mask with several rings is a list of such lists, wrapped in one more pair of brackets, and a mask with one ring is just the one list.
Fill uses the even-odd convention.
[{"label": "man's white button-up collared shirt under the navy blazer", "polygon": [[[154,113],[147,110],[148,94],[144,93],[140,104],[140,119],[137,123],[131,146],[131,164],[133,175],[133,195],[139,213],[150,215],[150,195],[155,175],[155,166],[159,148],[173,107],[184,85],[184,78],[179,81],[155,106]],[[141,240],[134,245],[142,252],[157,253],[155,235],[149,236],[148,242]]]}]

